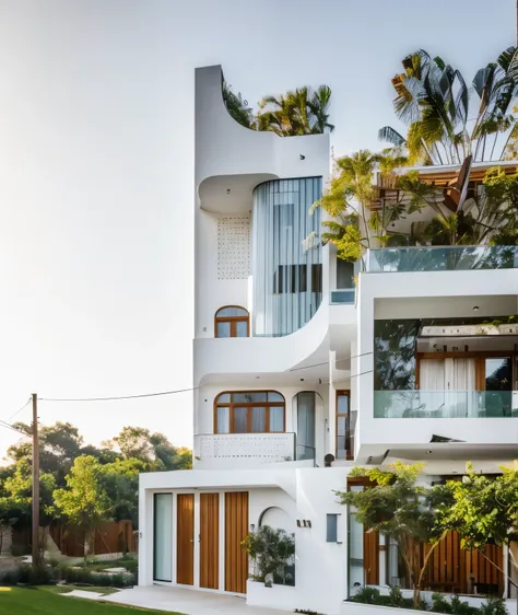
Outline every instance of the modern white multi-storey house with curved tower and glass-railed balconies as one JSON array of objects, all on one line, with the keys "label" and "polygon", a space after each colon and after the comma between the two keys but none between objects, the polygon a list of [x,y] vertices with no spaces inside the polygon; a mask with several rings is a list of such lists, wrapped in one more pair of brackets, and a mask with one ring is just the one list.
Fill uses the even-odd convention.
[{"label": "modern white multi-storey house with curved tower and glass-railed balconies", "polygon": [[[249,130],[222,82],[196,71],[193,469],[141,475],[139,584],[334,615],[354,584],[401,578],[337,501],[363,488],[354,463],[443,480],[518,457],[518,248],[372,250],[355,280],[309,211],[329,136]],[[240,543],[261,525],[294,534],[293,584],[248,580]],[[429,587],[466,591],[462,566]],[[482,568],[474,583],[505,592]]]}]

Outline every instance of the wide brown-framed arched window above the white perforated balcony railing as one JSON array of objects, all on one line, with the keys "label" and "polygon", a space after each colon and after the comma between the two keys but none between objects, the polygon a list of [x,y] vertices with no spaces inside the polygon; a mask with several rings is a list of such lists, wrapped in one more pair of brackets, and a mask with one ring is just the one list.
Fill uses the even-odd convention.
[{"label": "wide brown-framed arched window above the white perforated balcony railing", "polygon": [[214,402],[214,433],[285,431],[284,397],[276,391],[233,391]]}]

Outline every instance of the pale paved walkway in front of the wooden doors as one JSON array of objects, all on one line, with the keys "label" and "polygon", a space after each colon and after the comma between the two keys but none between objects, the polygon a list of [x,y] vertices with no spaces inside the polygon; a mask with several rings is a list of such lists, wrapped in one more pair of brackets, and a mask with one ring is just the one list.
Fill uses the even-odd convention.
[{"label": "pale paved walkway in front of the wooden doors", "polygon": [[122,590],[103,601],[186,615],[286,615],[286,611],[247,606],[244,597],[160,585]]}]

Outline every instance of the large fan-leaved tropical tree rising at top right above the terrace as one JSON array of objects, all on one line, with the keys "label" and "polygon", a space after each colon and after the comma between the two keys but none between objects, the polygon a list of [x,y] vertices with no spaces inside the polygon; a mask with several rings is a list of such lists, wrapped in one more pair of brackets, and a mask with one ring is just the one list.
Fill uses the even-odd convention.
[{"label": "large fan-leaved tropical tree rising at top right above the terrace", "polygon": [[[498,137],[513,134],[516,126],[509,114],[518,83],[511,69],[515,58],[516,48],[509,47],[476,72],[472,86],[480,102],[471,123],[470,89],[461,72],[423,49],[410,54],[402,61],[403,72],[392,79],[393,108],[408,126],[407,137],[386,126],[380,140],[405,149],[411,164],[493,160]],[[506,146],[498,158],[505,155]]]}]

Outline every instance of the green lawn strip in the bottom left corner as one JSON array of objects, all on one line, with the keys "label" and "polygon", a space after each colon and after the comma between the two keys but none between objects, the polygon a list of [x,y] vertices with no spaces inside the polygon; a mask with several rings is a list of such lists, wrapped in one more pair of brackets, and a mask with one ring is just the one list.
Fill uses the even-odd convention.
[{"label": "green lawn strip in the bottom left corner", "polygon": [[139,613],[140,615],[164,615],[163,611],[131,608],[92,600],[66,597],[43,588],[1,587],[0,613],[2,615],[138,615]]}]

